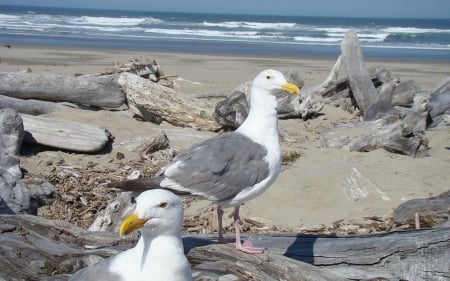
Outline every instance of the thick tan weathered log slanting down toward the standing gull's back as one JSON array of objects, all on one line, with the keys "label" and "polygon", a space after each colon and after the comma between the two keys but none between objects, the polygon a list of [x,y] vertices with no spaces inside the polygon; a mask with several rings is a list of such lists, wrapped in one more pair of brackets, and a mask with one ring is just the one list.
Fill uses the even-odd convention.
[{"label": "thick tan weathered log slanting down toward the standing gull's back", "polygon": [[175,126],[209,131],[220,128],[214,121],[213,109],[206,103],[130,73],[121,73],[118,82],[130,110],[145,121],[157,124],[166,121]]}]

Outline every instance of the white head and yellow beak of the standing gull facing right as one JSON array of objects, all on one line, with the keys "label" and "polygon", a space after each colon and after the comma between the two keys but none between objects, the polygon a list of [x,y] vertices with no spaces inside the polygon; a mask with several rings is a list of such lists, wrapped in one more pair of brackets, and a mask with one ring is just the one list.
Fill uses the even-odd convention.
[{"label": "white head and yellow beak of the standing gull facing right", "polygon": [[286,81],[286,78],[281,72],[273,69],[266,69],[258,74],[253,80],[252,88],[252,92],[268,92],[272,95],[275,95],[280,90],[287,91],[291,94],[298,94],[300,92],[296,85]]}]

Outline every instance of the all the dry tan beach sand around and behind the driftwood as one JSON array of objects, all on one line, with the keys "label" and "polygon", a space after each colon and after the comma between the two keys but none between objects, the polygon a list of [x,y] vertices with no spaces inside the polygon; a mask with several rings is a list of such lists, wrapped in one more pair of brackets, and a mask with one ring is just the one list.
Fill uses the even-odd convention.
[{"label": "all the dry tan beach sand around and behind the driftwood", "polygon": [[[228,95],[242,82],[251,80],[265,68],[281,71],[296,69],[305,81],[305,87],[323,81],[334,61],[314,58],[257,58],[211,56],[181,53],[151,53],[99,49],[46,48],[13,46],[0,48],[0,71],[50,71],[62,74],[100,73],[114,62],[123,63],[134,57],[155,59],[177,88],[190,95]],[[382,65],[402,80],[416,80],[424,89],[450,76],[449,63],[368,61],[368,66]],[[214,102],[214,101],[213,101]],[[213,103],[212,103],[213,104]],[[393,208],[412,199],[437,195],[450,189],[450,131],[428,131],[430,157],[411,158],[384,150],[370,153],[349,152],[319,148],[318,137],[322,128],[336,121],[353,118],[340,109],[325,106],[324,117],[302,121],[281,120],[284,136],[301,141],[284,141],[283,149],[297,150],[301,156],[295,163],[283,167],[279,179],[262,196],[241,208],[244,218],[261,217],[281,228],[297,229],[329,225],[340,219],[361,222],[367,216],[389,216]],[[122,142],[138,136],[154,135],[166,130],[171,145],[185,149],[212,133],[179,129],[168,124],[157,126],[131,120],[108,112],[53,114],[54,117],[80,120],[108,129],[115,139],[113,153],[123,149]],[[22,159],[22,166],[30,172],[44,169],[42,158],[51,153],[39,153]],[[108,165],[108,155],[77,155],[64,153],[73,163],[85,165],[95,158]],[[126,155],[126,157],[134,157]],[[359,200],[352,199],[344,188],[349,179],[357,182],[366,192]],[[200,201],[192,205],[187,214],[208,205]]]}]

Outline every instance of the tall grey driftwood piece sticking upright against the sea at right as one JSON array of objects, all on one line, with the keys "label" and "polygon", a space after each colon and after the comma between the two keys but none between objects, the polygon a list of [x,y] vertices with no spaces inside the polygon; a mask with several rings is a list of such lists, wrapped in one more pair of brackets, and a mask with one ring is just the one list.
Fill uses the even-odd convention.
[{"label": "tall grey driftwood piece sticking upright against the sea at right", "polygon": [[377,103],[378,97],[375,86],[364,65],[358,36],[354,30],[349,30],[345,34],[341,44],[341,52],[353,96],[365,116],[370,106]]}]

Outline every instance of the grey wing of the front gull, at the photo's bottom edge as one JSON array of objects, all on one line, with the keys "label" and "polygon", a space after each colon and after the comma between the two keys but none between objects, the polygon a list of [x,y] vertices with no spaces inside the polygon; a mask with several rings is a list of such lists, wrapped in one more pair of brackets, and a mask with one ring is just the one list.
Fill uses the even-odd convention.
[{"label": "grey wing of the front gull, at the photo's bottom edge", "polygon": [[122,277],[109,271],[111,258],[89,267],[80,269],[73,274],[69,281],[120,281]]}]

